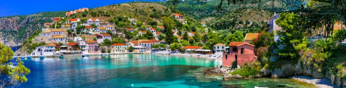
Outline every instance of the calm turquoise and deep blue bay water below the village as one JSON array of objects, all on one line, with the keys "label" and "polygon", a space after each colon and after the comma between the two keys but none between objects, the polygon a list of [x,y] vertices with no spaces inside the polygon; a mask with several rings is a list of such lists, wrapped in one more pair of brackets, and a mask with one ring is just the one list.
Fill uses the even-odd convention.
[{"label": "calm turquoise and deep blue bay water below the village", "polygon": [[[221,65],[221,60],[123,54],[90,57],[24,59],[31,70],[21,88],[254,88],[314,87],[291,79],[256,78],[222,81],[221,76],[204,76],[200,71]],[[132,86],[133,85],[133,86]]]}]

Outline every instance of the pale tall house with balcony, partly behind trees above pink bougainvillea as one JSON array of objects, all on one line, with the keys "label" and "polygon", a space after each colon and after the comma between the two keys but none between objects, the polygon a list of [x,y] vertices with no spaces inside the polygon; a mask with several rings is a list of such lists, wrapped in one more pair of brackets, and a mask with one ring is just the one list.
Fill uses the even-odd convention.
[{"label": "pale tall house with balcony, partly behind trees above pink bougainvillea", "polygon": [[275,20],[279,17],[280,17],[280,14],[275,14],[273,17],[268,18],[269,21],[268,21],[268,28],[267,29],[269,30],[268,31],[269,33],[274,32],[274,35],[277,35],[276,31],[282,31],[281,30],[282,28],[275,23]]}]

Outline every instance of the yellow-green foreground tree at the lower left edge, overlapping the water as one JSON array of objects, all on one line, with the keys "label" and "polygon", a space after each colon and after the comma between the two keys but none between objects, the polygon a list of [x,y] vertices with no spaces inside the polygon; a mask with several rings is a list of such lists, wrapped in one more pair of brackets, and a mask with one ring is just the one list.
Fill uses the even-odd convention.
[{"label": "yellow-green foreground tree at the lower left edge, overlapping the water", "polygon": [[[24,63],[20,59],[14,60],[13,55],[10,47],[0,43],[0,87],[17,87],[28,81],[25,75],[28,75],[30,70],[23,65]],[[11,67],[14,65],[12,61],[18,62],[14,68]]]}]

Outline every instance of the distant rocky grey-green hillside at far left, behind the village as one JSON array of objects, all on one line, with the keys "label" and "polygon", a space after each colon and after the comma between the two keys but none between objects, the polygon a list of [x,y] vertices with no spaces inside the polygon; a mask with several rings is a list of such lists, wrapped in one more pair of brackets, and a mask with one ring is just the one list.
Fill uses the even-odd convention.
[{"label": "distant rocky grey-green hillside at far left, behind the village", "polygon": [[[35,30],[45,22],[52,22],[53,17],[64,15],[65,11],[39,12],[30,15],[16,15],[0,18],[0,42],[7,46],[21,45]],[[7,34],[6,34],[7,33]],[[17,41],[15,41],[17,37]]]}]

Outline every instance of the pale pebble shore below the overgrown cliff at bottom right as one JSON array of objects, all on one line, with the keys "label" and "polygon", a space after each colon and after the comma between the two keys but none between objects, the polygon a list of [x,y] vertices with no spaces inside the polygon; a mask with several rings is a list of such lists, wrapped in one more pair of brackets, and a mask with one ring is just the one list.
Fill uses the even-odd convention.
[{"label": "pale pebble shore below the overgrown cliff at bottom right", "polygon": [[331,81],[327,78],[315,79],[308,76],[292,76],[289,78],[302,81],[304,83],[313,84],[319,88],[338,88],[336,85],[331,84]]}]

